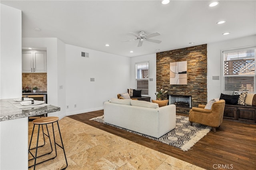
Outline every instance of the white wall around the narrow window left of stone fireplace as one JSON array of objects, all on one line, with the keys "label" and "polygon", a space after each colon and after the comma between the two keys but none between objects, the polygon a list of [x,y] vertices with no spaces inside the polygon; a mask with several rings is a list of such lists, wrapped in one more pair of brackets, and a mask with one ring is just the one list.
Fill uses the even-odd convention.
[{"label": "white wall around the narrow window left of stone fireplace", "polygon": [[153,81],[148,82],[148,95],[151,97],[150,101],[152,99],[155,100],[156,99],[156,95],[155,95],[156,93],[156,53],[131,58],[130,88],[131,89],[136,88],[135,63],[139,63],[142,61],[149,61],[149,78],[152,78]]}]

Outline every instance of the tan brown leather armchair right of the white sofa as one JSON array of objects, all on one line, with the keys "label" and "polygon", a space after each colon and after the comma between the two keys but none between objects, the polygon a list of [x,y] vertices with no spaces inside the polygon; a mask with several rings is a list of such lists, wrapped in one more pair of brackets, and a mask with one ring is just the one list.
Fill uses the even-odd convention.
[{"label": "tan brown leather armchair right of the white sofa", "polygon": [[212,109],[204,109],[205,105],[192,107],[189,111],[190,125],[193,122],[212,127],[212,131],[216,132],[216,127],[219,127],[223,120],[225,101],[220,100],[212,104]]}]

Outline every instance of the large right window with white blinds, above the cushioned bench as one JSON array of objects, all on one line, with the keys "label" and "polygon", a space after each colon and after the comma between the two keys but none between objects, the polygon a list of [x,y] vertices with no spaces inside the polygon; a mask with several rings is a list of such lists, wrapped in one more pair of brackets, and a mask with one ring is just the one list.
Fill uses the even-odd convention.
[{"label": "large right window with white blinds, above the cushioned bench", "polygon": [[224,93],[255,93],[255,49],[222,51]]}]

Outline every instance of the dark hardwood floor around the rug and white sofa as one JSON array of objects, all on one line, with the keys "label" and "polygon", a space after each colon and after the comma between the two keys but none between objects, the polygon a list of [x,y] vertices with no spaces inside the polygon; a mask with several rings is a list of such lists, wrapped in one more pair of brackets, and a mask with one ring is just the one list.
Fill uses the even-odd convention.
[{"label": "dark hardwood floor around the rug and white sofa", "polygon": [[256,125],[223,120],[217,132],[210,131],[188,151],[163,144],[89,119],[103,110],[68,116],[77,121],[126,138],[207,170],[256,170]]}]

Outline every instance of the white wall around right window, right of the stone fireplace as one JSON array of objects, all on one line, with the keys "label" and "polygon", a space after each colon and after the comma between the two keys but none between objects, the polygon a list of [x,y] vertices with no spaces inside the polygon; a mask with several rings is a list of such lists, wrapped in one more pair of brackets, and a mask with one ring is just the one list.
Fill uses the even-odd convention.
[{"label": "white wall around right window, right of the stone fireplace", "polygon": [[[256,36],[248,36],[233,40],[207,44],[207,98],[208,101],[220,97],[222,92],[222,56],[221,51],[241,47],[256,46]],[[212,76],[219,76],[220,80],[212,80]]]}]

